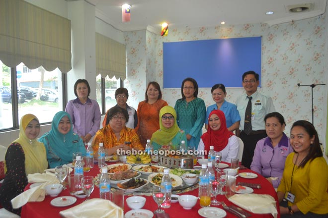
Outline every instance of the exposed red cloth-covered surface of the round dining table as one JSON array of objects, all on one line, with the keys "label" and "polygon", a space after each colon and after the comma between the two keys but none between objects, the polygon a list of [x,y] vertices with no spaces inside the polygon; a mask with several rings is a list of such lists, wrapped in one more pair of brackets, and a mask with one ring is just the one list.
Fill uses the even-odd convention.
[{"label": "exposed red cloth-covered surface of the round dining table", "polygon": [[[224,163],[224,162],[222,162]],[[107,164],[113,164],[113,163],[107,163]],[[157,163],[154,163],[157,164]],[[227,163],[230,164],[230,163]],[[272,196],[276,200],[276,207],[278,211],[277,218],[280,218],[280,213],[279,213],[279,203],[278,203],[278,198],[275,189],[273,188],[272,184],[264,178],[262,175],[251,171],[250,169],[244,168],[244,169],[239,169],[239,173],[241,172],[252,172],[257,174],[256,178],[243,178],[241,176],[237,177],[236,184],[239,182],[246,182],[246,183],[254,183],[254,184],[259,184],[260,188],[254,188],[255,194],[267,194]],[[93,168],[89,172],[84,172],[84,175],[91,175],[91,176],[97,176],[99,174],[99,167],[98,165],[94,165]],[[31,184],[28,184],[25,188],[25,190],[29,189],[29,186]],[[113,187],[112,187],[113,188]],[[149,211],[156,211],[158,209],[157,204],[155,203],[153,197],[152,197],[152,190],[150,188],[149,193],[145,192],[136,192],[136,193],[125,193],[124,198],[125,200],[133,195],[142,195],[143,197],[146,198],[146,204],[142,209],[146,209]],[[195,185],[185,188],[185,189],[180,189],[178,191],[173,191],[172,194],[178,194],[178,195],[194,195],[198,196],[198,183]],[[69,189],[64,189],[57,197],[61,196],[70,196]],[[54,207],[51,205],[51,201],[56,198],[56,197],[51,197],[49,195],[45,196],[45,199],[41,202],[28,202],[22,207],[21,210],[21,218],[60,218],[60,212],[63,210],[67,210],[69,208],[72,208],[74,206],[77,206],[81,204],[85,199],[80,199],[77,198],[77,201],[70,206],[66,207]],[[90,198],[99,198],[99,187],[95,186],[94,191],[91,193]],[[220,202],[225,202],[227,206],[232,206],[234,205],[231,203],[225,195],[218,195],[217,200]],[[211,206],[211,207],[217,207],[220,209],[223,209],[222,205],[219,206]],[[166,215],[168,215],[170,218],[181,218],[181,217],[188,217],[188,218],[201,218],[201,216],[198,214],[198,210],[200,210],[202,207],[199,204],[199,200],[197,200],[196,205],[191,208],[191,210],[185,210],[182,208],[182,206],[179,205],[178,202],[176,203],[171,203],[171,207],[168,209],[164,209]],[[128,211],[131,209],[128,207],[126,202],[124,203],[124,214],[126,214]],[[248,212],[250,214],[251,218],[272,218],[273,216],[271,214],[253,214],[251,212]],[[155,216],[154,216],[155,217]],[[227,218],[236,218],[234,214],[231,214],[230,212],[227,211]]]}]

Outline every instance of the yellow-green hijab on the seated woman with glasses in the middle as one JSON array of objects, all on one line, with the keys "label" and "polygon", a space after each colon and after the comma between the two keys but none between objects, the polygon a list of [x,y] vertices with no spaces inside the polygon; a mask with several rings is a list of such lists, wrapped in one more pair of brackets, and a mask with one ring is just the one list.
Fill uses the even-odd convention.
[{"label": "yellow-green hijab on the seated woman with glasses in the middle", "polygon": [[[172,114],[174,117],[174,124],[170,128],[165,128],[162,123],[162,116],[165,113]],[[153,133],[152,141],[156,142],[159,145],[165,145],[172,141],[172,139],[175,137],[175,135],[180,131],[180,128],[178,127],[176,123],[176,112],[175,109],[171,106],[165,106],[160,110],[160,129]]]}]

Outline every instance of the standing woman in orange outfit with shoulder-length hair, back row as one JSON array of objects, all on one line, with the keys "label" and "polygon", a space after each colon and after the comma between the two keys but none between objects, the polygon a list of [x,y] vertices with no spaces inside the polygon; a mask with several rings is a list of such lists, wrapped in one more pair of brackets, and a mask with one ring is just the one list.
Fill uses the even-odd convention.
[{"label": "standing woman in orange outfit with shoulder-length hair, back row", "polygon": [[135,128],[144,147],[147,139],[151,139],[153,133],[160,129],[160,110],[167,106],[157,82],[148,83],[145,99],[138,105],[138,125]]}]

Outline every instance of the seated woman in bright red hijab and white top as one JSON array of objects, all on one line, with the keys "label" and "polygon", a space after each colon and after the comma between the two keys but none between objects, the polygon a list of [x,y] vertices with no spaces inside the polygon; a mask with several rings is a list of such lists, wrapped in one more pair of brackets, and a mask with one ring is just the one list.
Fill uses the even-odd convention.
[{"label": "seated woman in bright red hijab and white top", "polygon": [[229,162],[238,156],[238,138],[227,128],[226,117],[221,110],[212,110],[208,117],[207,132],[201,136],[198,151],[214,151],[222,153],[222,161]]}]

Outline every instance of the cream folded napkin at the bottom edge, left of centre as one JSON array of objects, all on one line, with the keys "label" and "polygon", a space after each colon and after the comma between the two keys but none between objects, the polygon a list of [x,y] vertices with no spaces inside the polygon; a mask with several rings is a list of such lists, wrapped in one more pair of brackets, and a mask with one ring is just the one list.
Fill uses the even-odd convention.
[{"label": "cream folded napkin at the bottom edge, left of centre", "polygon": [[124,212],[109,200],[93,198],[73,208],[61,211],[62,218],[123,218]]}]

